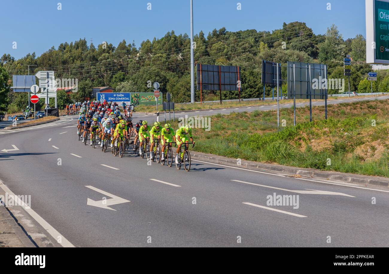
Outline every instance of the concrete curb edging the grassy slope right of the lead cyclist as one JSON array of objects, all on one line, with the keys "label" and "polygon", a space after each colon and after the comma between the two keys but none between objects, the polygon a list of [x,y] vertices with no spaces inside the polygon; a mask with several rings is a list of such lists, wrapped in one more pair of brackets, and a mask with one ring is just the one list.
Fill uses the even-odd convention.
[{"label": "concrete curb edging the grassy slope right of the lead cyclist", "polygon": [[231,166],[244,167],[249,169],[259,169],[261,171],[277,171],[288,173],[291,175],[307,176],[309,178],[320,178],[327,180],[340,181],[345,183],[355,183],[364,186],[374,187],[389,187],[389,178],[378,176],[366,176],[351,173],[342,173],[336,171],[322,171],[313,168],[296,168],[292,166],[281,166],[279,164],[265,164],[260,162],[252,162],[241,160],[241,165],[237,165],[237,159],[218,156],[214,154],[206,154],[202,152],[193,152],[191,157],[195,160],[203,160],[209,162],[216,162],[220,164],[227,164]]}]

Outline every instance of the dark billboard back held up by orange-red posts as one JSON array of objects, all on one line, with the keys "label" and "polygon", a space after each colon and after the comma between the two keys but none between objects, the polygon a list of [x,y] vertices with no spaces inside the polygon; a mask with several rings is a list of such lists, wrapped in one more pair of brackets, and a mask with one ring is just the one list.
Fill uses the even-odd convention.
[{"label": "dark billboard back held up by orange-red posts", "polygon": [[241,83],[240,66],[197,64],[198,90],[242,91]]}]

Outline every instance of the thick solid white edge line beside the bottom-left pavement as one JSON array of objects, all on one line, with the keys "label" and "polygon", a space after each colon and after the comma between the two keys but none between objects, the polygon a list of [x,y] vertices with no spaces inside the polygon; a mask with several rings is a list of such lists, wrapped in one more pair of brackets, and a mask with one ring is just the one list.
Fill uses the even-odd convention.
[{"label": "thick solid white edge line beside the bottom-left pavement", "polygon": [[[1,180],[0,180],[0,187],[3,188],[3,190],[8,193],[8,195],[9,195],[8,197],[18,197],[18,196],[15,196],[15,194],[6,185],[4,185],[4,183]],[[55,240],[61,239],[61,243],[59,243],[59,244],[61,244],[61,246],[63,246],[63,247],[75,247],[60,232],[58,232],[56,229],[54,229],[54,227],[52,227],[48,222],[46,222],[44,220],[44,218],[42,218],[41,216],[38,215],[38,213],[33,211],[32,208],[26,206],[26,204],[23,201],[21,201],[21,199],[19,199],[19,198],[18,198],[18,204],[20,204],[27,211],[27,213],[30,214],[30,216],[32,218],[34,218],[35,221],[37,221],[40,225],[42,225],[42,227],[44,229],[46,229],[46,231]]]}]

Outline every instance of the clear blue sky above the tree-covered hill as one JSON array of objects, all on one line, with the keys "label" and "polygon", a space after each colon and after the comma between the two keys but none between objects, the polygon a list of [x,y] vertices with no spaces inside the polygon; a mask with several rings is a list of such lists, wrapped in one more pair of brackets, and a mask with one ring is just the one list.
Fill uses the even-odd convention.
[{"label": "clear blue sky above the tree-covered hill", "polygon": [[[62,10],[57,9],[57,3]],[[214,28],[228,31],[275,30],[282,23],[303,21],[315,34],[324,34],[331,24],[343,38],[361,33],[366,37],[364,0],[193,0],[194,33],[205,35]],[[237,3],[241,10],[237,10]],[[327,10],[327,3],[331,10]],[[151,3],[151,10],[147,4]],[[163,37],[168,31],[190,34],[189,0],[1,0],[0,54],[16,59],[35,52],[37,56],[63,42],[93,38],[117,46],[123,39]],[[17,49],[12,43],[17,42]]]}]

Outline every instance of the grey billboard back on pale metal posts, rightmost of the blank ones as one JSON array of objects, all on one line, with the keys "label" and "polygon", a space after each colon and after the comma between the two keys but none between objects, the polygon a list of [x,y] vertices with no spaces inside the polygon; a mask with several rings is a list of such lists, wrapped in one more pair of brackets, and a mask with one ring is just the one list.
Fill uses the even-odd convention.
[{"label": "grey billboard back on pale metal posts, rightmost of the blank ones", "polygon": [[[295,65],[296,79],[294,79],[293,65]],[[311,66],[310,80],[309,65]],[[309,99],[309,85],[311,85],[312,99],[326,99],[326,73],[324,64],[287,62],[288,98],[293,98],[293,88],[296,83],[296,99]]]}]

